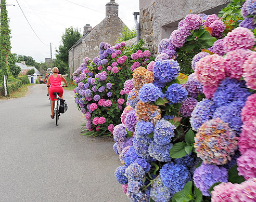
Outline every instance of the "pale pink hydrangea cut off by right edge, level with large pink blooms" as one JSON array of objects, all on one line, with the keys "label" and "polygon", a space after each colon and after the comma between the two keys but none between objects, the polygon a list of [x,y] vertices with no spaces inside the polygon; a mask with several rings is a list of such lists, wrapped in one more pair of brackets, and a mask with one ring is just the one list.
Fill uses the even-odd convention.
[{"label": "pale pink hydrangea cut off by right edge, level with large pink blooms", "polygon": [[256,90],[256,52],[252,52],[242,66],[244,69],[243,76],[245,77],[246,85]]}]

